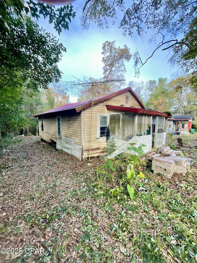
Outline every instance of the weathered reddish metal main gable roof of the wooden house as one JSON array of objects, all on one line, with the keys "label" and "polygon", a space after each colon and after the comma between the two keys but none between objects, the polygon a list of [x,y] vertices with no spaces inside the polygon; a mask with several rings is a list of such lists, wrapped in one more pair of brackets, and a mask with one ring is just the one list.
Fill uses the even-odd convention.
[{"label": "weathered reddish metal main gable roof of the wooden house", "polygon": [[[131,87],[121,89],[119,91],[113,92],[113,93],[108,94],[108,95],[104,95],[104,96],[101,96],[101,97],[94,98],[92,100],[93,101],[93,105],[97,104],[99,102],[103,102],[103,101],[109,100],[112,97],[115,97],[115,96],[117,96],[119,94],[122,94],[122,93],[124,93],[126,91],[130,91],[131,94],[139,102],[139,104],[142,105],[142,107],[144,109],[146,109],[146,107],[143,105],[142,101],[138,98],[138,96],[135,94],[135,92],[132,90]],[[60,106],[58,108],[51,109],[51,110],[48,110],[46,112],[42,112],[40,114],[37,114],[34,117],[41,117],[41,116],[44,116],[44,115],[50,115],[50,114],[53,114],[53,113],[59,113],[59,112],[67,111],[67,110],[71,110],[71,109],[75,109],[76,112],[80,112],[81,110],[86,109],[88,107],[91,107],[91,100],[80,101],[80,102],[71,103],[71,104],[65,104],[65,105],[62,105],[62,106]]]}]

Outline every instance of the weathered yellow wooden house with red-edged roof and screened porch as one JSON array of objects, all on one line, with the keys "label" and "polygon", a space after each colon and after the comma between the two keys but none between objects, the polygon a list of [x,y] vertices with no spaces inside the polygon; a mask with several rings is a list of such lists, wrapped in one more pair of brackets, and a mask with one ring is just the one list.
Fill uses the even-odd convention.
[{"label": "weathered yellow wooden house with red-edged roof and screened porch", "polygon": [[137,142],[136,146],[145,144],[144,153],[162,146],[169,116],[147,110],[129,87],[34,117],[38,117],[39,135],[43,140],[56,142],[57,149],[83,160],[103,153],[109,133],[118,148],[132,141]]}]

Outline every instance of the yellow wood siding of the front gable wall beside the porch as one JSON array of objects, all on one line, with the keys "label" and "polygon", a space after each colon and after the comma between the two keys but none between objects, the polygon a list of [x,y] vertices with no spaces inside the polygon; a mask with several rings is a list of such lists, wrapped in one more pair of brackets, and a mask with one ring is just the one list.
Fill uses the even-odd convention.
[{"label": "yellow wood siding of the front gable wall beside the porch", "polygon": [[[129,103],[125,104],[126,96],[129,97]],[[109,100],[103,101],[92,107],[92,125],[91,125],[91,141],[90,141],[90,124],[91,124],[91,107],[84,110],[83,119],[84,119],[84,150],[83,150],[83,158],[89,157],[89,149],[90,156],[96,156],[98,154],[103,153],[103,148],[107,146],[106,137],[97,138],[97,129],[98,129],[98,121],[97,116],[100,113],[107,114],[109,111],[106,109],[106,105],[115,105],[115,106],[128,106],[128,107],[136,107],[141,108],[142,106],[135,99],[135,97],[131,96],[129,91],[124,92],[116,97],[113,97]],[[113,111],[110,111],[113,112]],[[98,114],[97,114],[98,113]]]}]

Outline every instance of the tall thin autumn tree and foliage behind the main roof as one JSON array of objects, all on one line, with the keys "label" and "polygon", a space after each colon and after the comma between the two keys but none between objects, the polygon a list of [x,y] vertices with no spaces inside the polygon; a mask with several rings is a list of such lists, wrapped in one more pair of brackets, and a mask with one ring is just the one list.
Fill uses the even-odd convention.
[{"label": "tall thin autumn tree and foliage behind the main roof", "polygon": [[125,85],[122,80],[124,80],[124,73],[126,73],[125,62],[131,59],[130,49],[126,45],[116,47],[115,41],[105,41],[101,54],[104,64],[103,77],[99,80],[85,77],[82,81],[83,84],[75,85],[74,89],[79,97],[78,101],[107,95]]}]

